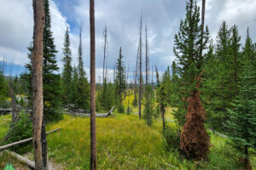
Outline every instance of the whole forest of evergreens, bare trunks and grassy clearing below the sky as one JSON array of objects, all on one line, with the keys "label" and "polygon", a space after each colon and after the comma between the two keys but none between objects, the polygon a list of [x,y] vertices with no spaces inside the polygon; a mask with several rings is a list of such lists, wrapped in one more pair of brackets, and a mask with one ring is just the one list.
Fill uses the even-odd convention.
[{"label": "whole forest of evergreens, bare trunks and grassy clearing below the sky", "polygon": [[79,23],[76,59],[65,28],[61,63],[49,0],[32,0],[25,71],[15,75],[13,61],[9,68],[0,56],[0,169],[256,169],[254,30],[241,37],[223,20],[212,37],[207,1],[186,0],[166,68],[150,58],[150,25],[141,12],[137,55],[124,55],[119,43],[110,70],[111,37],[107,24],[96,27],[95,0],[86,1],[90,23]]}]

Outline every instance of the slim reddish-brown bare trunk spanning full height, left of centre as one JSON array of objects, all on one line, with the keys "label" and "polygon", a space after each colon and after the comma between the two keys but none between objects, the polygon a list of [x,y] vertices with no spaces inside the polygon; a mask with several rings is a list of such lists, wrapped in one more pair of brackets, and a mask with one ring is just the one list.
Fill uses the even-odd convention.
[{"label": "slim reddish-brown bare trunk spanning full height, left of centre", "polygon": [[90,0],[90,170],[96,170],[95,10]]}]

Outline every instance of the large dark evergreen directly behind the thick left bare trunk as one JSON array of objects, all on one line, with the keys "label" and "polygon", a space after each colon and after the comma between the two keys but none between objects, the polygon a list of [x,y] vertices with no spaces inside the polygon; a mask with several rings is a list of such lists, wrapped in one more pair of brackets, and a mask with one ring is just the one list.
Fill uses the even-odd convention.
[{"label": "large dark evergreen directly behind the thick left bare trunk", "polygon": [[[49,0],[44,0],[44,56],[43,56],[43,88],[44,88],[44,117],[46,120],[60,118],[58,109],[61,106],[61,76],[56,74],[59,68],[56,64],[54,37],[51,31],[51,18],[49,13]],[[30,53],[28,59],[32,60],[32,45],[28,48]],[[32,97],[32,67],[31,62],[26,64],[27,74],[22,77],[27,81],[27,88],[30,89],[29,99]]]}]

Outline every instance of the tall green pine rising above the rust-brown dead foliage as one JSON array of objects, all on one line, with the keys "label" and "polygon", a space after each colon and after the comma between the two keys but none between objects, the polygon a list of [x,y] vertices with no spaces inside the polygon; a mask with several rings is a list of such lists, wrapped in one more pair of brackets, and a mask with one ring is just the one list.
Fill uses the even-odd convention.
[{"label": "tall green pine rising above the rust-brown dead foliage", "polygon": [[209,32],[208,28],[206,31],[201,29],[200,20],[200,8],[195,0],[189,0],[186,4],[186,18],[180,22],[179,31],[174,37],[173,48],[177,57],[177,74],[180,77],[177,94],[180,101],[177,105],[177,113],[181,116],[180,118],[183,116],[182,122],[184,122],[188,105],[186,99],[192,91],[197,90],[195,77],[199,75],[205,62],[205,57],[201,56],[201,50],[207,48]]}]

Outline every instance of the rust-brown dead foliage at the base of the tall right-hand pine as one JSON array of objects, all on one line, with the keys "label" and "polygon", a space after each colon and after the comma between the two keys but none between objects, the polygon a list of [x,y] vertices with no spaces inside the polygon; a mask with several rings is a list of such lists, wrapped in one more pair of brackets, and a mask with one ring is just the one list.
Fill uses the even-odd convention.
[{"label": "rust-brown dead foliage at the base of the tall right-hand pine", "polygon": [[[200,77],[196,78],[196,88],[200,86]],[[206,111],[201,104],[199,97],[200,91],[191,93],[187,99],[189,102],[186,122],[183,126],[183,132],[180,137],[180,149],[192,159],[201,160],[207,159],[209,152],[210,140],[207,135],[207,130],[204,126],[206,120]]]}]

